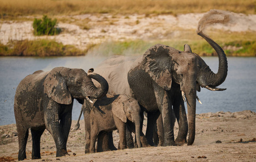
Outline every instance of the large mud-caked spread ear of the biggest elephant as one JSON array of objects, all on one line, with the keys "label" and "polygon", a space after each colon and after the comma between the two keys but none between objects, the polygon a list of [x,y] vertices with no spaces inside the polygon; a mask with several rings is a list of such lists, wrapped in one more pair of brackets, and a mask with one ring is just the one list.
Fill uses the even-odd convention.
[{"label": "large mud-caked spread ear of the biggest elephant", "polygon": [[171,58],[169,46],[157,44],[144,53],[142,64],[145,72],[164,90],[171,89]]}]

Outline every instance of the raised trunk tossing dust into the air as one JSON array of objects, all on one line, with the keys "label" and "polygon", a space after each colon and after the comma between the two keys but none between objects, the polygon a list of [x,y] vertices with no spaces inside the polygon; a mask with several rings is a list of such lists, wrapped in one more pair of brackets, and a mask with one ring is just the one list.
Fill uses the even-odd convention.
[{"label": "raised trunk tossing dust into the air", "polygon": [[225,55],[225,52],[222,50],[222,48],[214,42],[213,39],[209,38],[207,35],[205,35],[202,31],[198,32],[197,35],[200,35],[202,38],[204,38],[217,52],[217,55],[219,57],[219,69],[217,73],[214,73],[212,70],[210,70],[209,67],[205,68],[205,71],[202,73],[202,76],[199,76],[198,79],[201,86],[210,86],[210,87],[216,87],[221,85],[226,77],[227,77],[227,71],[228,71],[228,63],[227,63],[227,57]]}]

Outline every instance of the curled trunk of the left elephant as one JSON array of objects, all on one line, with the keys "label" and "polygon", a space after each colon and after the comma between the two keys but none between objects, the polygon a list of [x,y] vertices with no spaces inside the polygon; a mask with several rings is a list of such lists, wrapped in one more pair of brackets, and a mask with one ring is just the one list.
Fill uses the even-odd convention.
[{"label": "curled trunk of the left elephant", "polygon": [[100,83],[100,87],[97,88],[94,84],[90,87],[90,97],[91,98],[102,98],[107,94],[108,91],[108,83],[107,80],[97,73],[90,72],[88,73],[88,77],[91,77],[92,79],[95,79],[97,82]]}]

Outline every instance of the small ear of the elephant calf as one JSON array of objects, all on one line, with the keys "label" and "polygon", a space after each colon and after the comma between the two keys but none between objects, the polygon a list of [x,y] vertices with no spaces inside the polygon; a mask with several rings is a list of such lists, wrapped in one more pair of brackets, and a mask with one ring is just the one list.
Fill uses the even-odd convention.
[{"label": "small ear of the elephant calf", "polygon": [[124,103],[119,98],[112,104],[112,113],[114,116],[118,117],[122,122],[127,122],[127,117],[124,112]]}]

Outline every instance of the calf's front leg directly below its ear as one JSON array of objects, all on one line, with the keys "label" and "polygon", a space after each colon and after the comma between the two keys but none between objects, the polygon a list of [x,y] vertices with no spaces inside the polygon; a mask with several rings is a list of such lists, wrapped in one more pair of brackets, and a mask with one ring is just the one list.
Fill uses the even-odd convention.
[{"label": "calf's front leg directly below its ear", "polygon": [[117,129],[119,131],[119,144],[120,144],[120,150],[126,149],[126,124],[122,122],[118,117],[113,116],[114,123],[117,126]]}]

